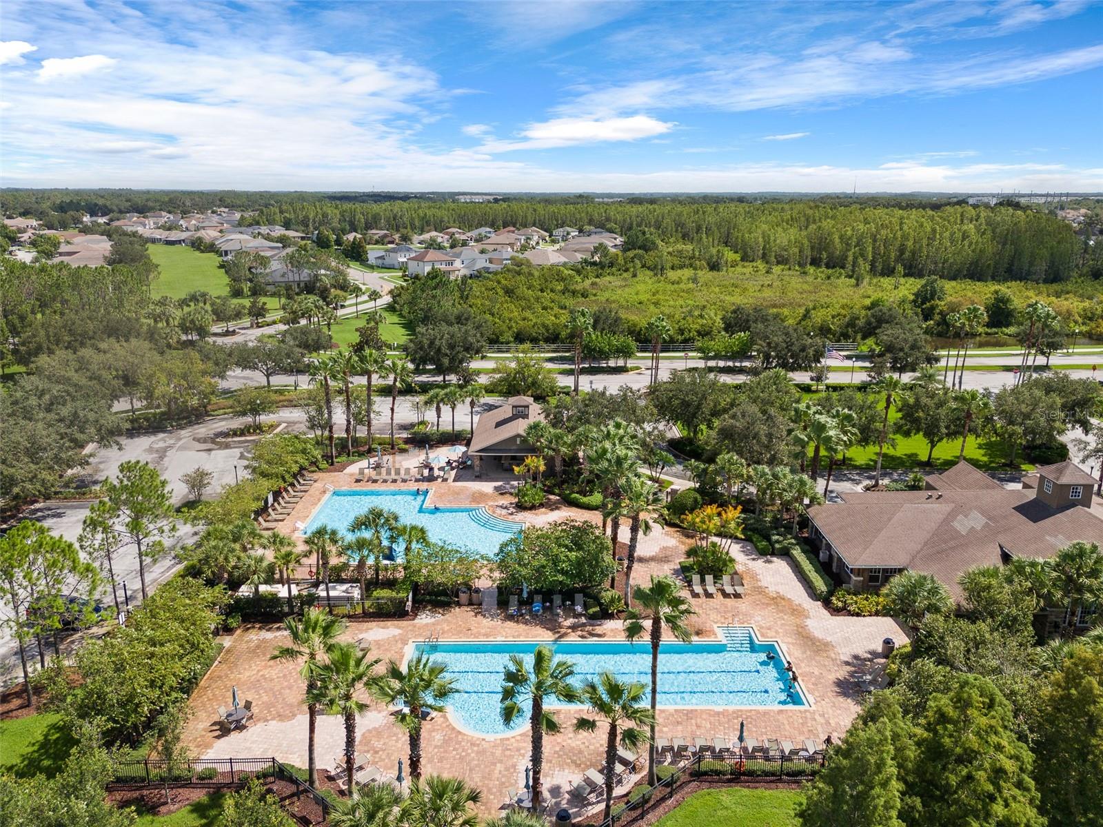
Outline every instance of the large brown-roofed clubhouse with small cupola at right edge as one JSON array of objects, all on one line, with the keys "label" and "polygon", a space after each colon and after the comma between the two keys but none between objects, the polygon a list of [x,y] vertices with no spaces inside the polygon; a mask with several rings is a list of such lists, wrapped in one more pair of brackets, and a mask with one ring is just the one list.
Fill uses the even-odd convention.
[{"label": "large brown-roofed clubhouse with small cupola at right edge", "polygon": [[878,589],[907,569],[933,574],[955,597],[957,579],[977,566],[1103,544],[1086,472],[1059,462],[1024,482],[1005,488],[963,461],[928,476],[924,491],[843,492],[842,503],[808,508],[810,538],[842,586]]}]

